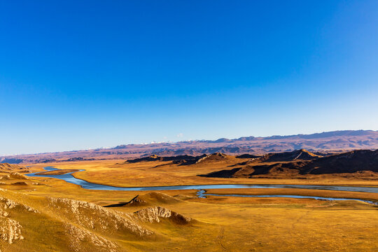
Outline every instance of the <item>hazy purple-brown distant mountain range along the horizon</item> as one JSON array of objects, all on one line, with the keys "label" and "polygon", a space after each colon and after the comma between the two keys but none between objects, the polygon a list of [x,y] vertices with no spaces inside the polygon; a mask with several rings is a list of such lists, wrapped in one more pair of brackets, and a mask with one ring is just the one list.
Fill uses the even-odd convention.
[{"label": "hazy purple-brown distant mountain range along the horizon", "polygon": [[159,144],[127,144],[114,148],[99,148],[85,151],[65,151],[59,153],[39,153],[0,157],[0,162],[34,163],[62,162],[101,159],[144,158],[150,155],[203,155],[225,153],[228,155],[294,151],[307,149],[316,155],[341,153],[357,149],[378,149],[378,131],[343,130],[316,134],[297,134],[272,137],[240,137],[239,139],[217,139],[179,141]]}]

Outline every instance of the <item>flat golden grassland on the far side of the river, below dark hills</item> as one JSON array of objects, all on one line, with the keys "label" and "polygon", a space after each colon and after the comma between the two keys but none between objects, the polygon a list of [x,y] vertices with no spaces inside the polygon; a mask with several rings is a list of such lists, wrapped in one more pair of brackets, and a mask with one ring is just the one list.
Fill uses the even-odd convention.
[{"label": "flat golden grassland on the far side of the river, below dark hills", "polygon": [[[238,162],[246,161],[232,156],[227,160],[203,165],[172,165],[169,162],[125,163],[125,160],[101,160],[90,162],[52,163],[59,169],[85,169],[85,172],[73,174],[77,179],[107,186],[180,186],[221,183],[256,183],[256,184],[303,184],[303,185],[339,185],[339,186],[378,186],[378,177],[372,180],[355,176],[312,175],[307,178],[289,179],[244,179],[244,178],[209,178],[197,176],[220,169],[232,169]],[[42,171],[48,165],[35,165],[33,170]],[[232,167],[231,167],[232,166]],[[237,166],[236,166],[237,167]]]}]

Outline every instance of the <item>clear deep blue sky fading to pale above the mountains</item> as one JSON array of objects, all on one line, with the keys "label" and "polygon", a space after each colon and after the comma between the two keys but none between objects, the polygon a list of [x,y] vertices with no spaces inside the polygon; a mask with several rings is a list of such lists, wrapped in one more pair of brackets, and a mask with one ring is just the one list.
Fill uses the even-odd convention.
[{"label": "clear deep blue sky fading to pale above the mountains", "polygon": [[1,1],[0,155],[378,130],[378,1]]}]

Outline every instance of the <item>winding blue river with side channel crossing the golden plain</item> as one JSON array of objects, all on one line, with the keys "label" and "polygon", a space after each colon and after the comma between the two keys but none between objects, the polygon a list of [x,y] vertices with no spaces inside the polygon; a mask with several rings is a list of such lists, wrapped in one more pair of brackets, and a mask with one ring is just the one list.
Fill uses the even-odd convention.
[{"label": "winding blue river with side channel crossing the golden plain", "polygon": [[[54,167],[44,167],[45,171],[55,171],[59,170]],[[80,170],[78,172],[83,172]],[[354,198],[342,198],[342,197],[316,197],[316,196],[300,196],[300,195],[218,195],[206,193],[207,189],[236,189],[236,188],[297,188],[297,189],[312,189],[312,190],[339,190],[348,192],[363,192],[363,193],[378,193],[378,187],[358,187],[358,186],[314,186],[314,185],[275,185],[275,184],[217,184],[217,185],[189,185],[189,186],[148,186],[148,187],[117,187],[117,186],[106,186],[97,183],[90,183],[84,181],[83,179],[76,179],[69,172],[62,175],[51,175],[51,174],[41,174],[39,172],[34,172],[31,174],[26,174],[26,176],[43,176],[48,178],[62,179],[68,183],[73,183],[81,186],[84,189],[90,190],[198,190],[198,197],[207,196],[223,196],[223,197],[290,197],[290,198],[311,198],[315,200],[358,200],[362,202],[367,202],[370,204],[377,204],[378,202],[372,202],[370,200],[361,200]]]}]

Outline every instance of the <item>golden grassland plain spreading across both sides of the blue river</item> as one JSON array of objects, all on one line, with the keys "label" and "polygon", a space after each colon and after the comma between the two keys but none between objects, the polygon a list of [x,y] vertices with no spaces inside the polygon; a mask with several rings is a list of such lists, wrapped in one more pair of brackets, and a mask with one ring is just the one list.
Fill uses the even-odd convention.
[{"label": "golden grassland plain spreading across both sides of the blue river", "polygon": [[[33,165],[30,169],[33,172],[42,171],[42,167],[49,165],[59,169],[85,169],[85,172],[77,172],[75,176],[110,186],[214,183],[378,186],[378,181],[335,176],[317,176],[311,179],[217,179],[197,176],[225,169],[229,165],[235,165],[235,161],[240,162],[227,160],[214,165],[156,167],[164,164],[120,164],[124,161],[104,160]],[[15,184],[25,181],[26,185]],[[156,233],[153,239],[123,237],[116,233],[107,235],[107,239],[119,245],[119,251],[378,251],[378,207],[363,202],[211,196],[200,199],[194,197],[196,190],[161,191],[160,193],[172,196],[167,197],[168,200],[162,200],[161,197],[141,191],[85,190],[80,186],[43,176],[27,180],[8,179],[3,180],[3,183],[5,184],[1,184],[1,188],[18,195],[9,197],[19,197],[20,201],[41,209],[44,214],[26,215],[22,211],[11,211],[12,218],[22,225],[25,239],[14,241],[13,244],[0,241],[1,251],[25,251],[25,248],[27,251],[71,251],[68,246],[69,237],[65,235],[59,212],[45,210],[46,197],[64,197],[106,206],[128,202],[136,195],[145,199],[146,204],[111,209],[131,213],[158,205],[197,222],[190,225],[176,225],[169,221],[148,224],[148,228]],[[378,195],[374,193],[305,189],[211,189],[207,193],[310,195],[378,200]],[[97,232],[97,235],[101,234]],[[90,247],[88,244],[86,246]]]}]

